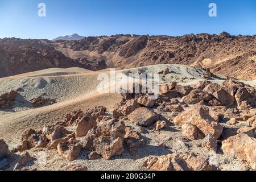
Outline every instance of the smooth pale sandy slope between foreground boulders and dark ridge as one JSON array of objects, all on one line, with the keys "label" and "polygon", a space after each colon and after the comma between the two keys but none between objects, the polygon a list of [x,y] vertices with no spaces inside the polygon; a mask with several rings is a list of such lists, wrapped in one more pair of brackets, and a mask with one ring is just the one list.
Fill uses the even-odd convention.
[{"label": "smooth pale sandy slope between foreground boulders and dark ridge", "polygon": [[[165,68],[171,73],[160,76],[160,82],[177,81],[179,84],[194,84],[205,80],[205,73],[201,69],[182,65],[153,65],[143,68],[116,71],[125,82],[127,75],[133,73],[138,77],[138,72],[157,73]],[[110,76],[110,69],[98,72],[82,68],[46,69],[43,71],[25,73],[0,79],[0,94],[19,90],[18,101],[11,110],[0,110],[0,138],[5,139],[10,148],[20,142],[20,135],[25,129],[42,129],[44,125],[63,121],[66,114],[73,110],[92,109],[95,106],[105,106],[112,110],[115,103],[121,101],[119,94],[100,94],[97,92],[99,74]],[[212,77],[212,81],[221,83],[221,78]],[[255,81],[250,84],[256,85]],[[32,108],[30,100],[39,96],[55,98],[57,104]]]}]

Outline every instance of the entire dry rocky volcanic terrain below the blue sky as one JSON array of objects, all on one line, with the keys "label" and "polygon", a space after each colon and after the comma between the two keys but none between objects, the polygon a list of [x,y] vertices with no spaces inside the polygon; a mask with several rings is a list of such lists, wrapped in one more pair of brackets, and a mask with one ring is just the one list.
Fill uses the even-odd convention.
[{"label": "entire dry rocky volcanic terrain below the blue sky", "polygon": [[[256,170],[255,41],[0,39],[0,170]],[[106,92],[118,85],[139,92]]]}]

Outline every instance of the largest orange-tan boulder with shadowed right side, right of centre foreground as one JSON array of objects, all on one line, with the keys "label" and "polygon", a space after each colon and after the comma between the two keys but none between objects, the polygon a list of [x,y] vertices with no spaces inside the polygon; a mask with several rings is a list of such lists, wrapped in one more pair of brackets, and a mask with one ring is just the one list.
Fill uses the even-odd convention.
[{"label": "largest orange-tan boulder with shadowed right side, right of centre foreground", "polygon": [[194,125],[204,137],[212,134],[216,139],[220,137],[223,130],[223,127],[218,123],[218,113],[200,104],[183,111],[174,118],[173,122],[180,127],[185,124]]}]

